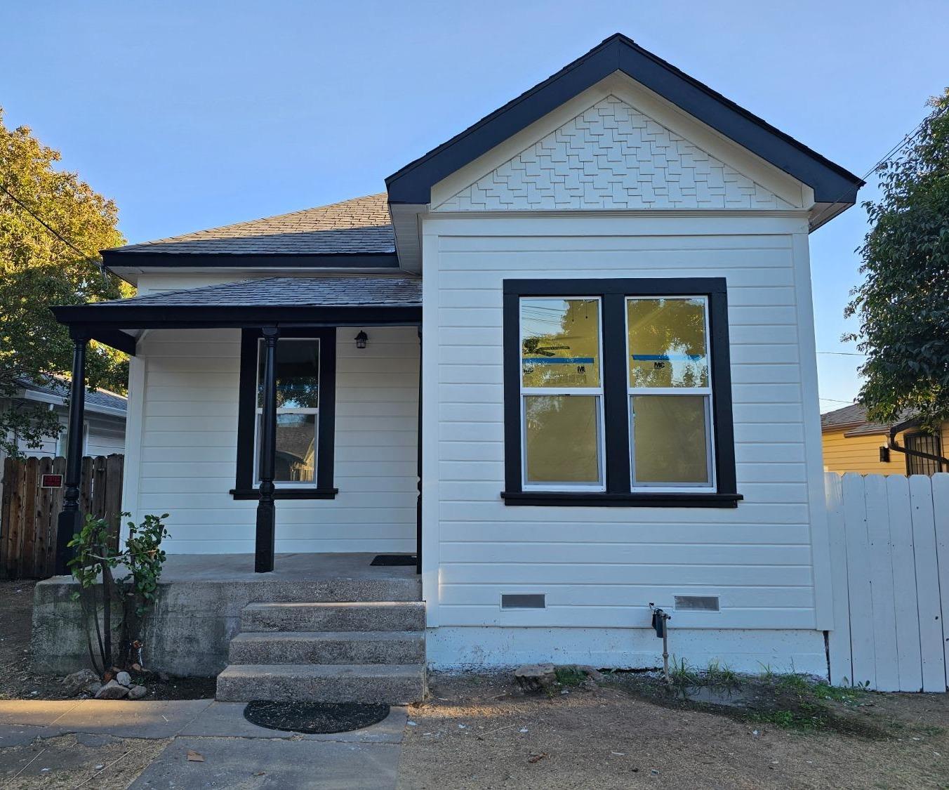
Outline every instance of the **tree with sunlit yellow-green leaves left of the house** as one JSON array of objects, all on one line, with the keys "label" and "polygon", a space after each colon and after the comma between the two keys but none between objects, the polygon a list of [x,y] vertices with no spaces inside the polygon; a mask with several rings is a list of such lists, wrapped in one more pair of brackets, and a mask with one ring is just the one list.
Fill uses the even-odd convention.
[{"label": "tree with sunlit yellow-green leaves left of the house", "polygon": [[[0,109],[0,451],[9,455],[16,455],[13,433],[38,446],[59,431],[47,409],[5,400],[23,381],[62,385],[54,377],[72,366],[68,331],[49,307],[131,292],[98,263],[99,250],[123,240],[115,203],[55,169],[59,160],[28,127],[8,129]],[[124,391],[127,361],[119,352],[90,344],[87,371],[89,386]]]}]

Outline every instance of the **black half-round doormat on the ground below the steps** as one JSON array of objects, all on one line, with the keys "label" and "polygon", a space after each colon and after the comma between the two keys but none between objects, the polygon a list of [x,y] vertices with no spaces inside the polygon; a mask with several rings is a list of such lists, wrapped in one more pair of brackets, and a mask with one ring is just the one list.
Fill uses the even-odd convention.
[{"label": "black half-round doormat on the ground below the steps", "polygon": [[285,732],[318,735],[350,732],[378,724],[389,715],[388,705],[362,703],[271,703],[257,701],[244,708],[252,724]]}]

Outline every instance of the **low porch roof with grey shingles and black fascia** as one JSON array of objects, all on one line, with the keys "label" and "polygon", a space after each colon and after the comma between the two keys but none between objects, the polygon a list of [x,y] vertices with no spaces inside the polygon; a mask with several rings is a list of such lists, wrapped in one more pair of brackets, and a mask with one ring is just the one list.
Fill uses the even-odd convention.
[{"label": "low porch roof with grey shingles and black fascia", "polygon": [[139,329],[339,327],[421,323],[421,277],[265,277],[52,308],[73,333],[135,353]]}]

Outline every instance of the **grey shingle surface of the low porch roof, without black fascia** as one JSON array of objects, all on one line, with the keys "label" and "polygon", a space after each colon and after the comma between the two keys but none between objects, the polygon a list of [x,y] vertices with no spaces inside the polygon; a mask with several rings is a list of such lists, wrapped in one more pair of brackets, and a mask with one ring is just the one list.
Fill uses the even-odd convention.
[{"label": "grey shingle surface of the low porch roof, without black fascia", "polygon": [[325,274],[266,277],[187,291],[99,302],[95,307],[419,307],[421,277],[412,274]]}]

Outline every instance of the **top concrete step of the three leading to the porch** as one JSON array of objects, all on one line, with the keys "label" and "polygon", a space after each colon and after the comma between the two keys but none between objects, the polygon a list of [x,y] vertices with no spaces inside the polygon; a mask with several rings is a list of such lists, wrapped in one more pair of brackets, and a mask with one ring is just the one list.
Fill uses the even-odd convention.
[{"label": "top concrete step of the three leading to the porch", "polygon": [[249,604],[242,631],[423,630],[421,601]]}]

